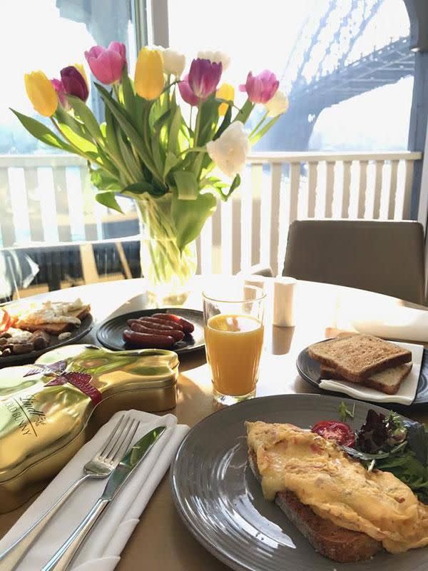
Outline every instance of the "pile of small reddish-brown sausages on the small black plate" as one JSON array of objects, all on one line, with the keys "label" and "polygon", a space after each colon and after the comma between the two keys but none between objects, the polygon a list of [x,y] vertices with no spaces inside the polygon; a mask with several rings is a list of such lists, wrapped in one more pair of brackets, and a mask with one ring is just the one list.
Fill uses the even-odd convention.
[{"label": "pile of small reddish-brown sausages on the small black plate", "polygon": [[123,331],[123,340],[138,348],[170,349],[195,329],[193,323],[172,313],[143,315],[127,323],[129,329]]}]

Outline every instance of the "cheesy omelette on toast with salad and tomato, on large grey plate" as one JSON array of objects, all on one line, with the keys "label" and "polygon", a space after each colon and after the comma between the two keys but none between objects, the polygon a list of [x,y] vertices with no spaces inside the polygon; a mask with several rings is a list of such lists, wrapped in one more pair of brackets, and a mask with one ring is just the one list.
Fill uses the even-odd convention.
[{"label": "cheesy omelette on toast with salad and tomato, on large grey plate", "polygon": [[[343,403],[342,403],[343,404]],[[345,407],[345,413],[352,415]],[[343,419],[342,419],[343,420]],[[339,562],[428,545],[424,426],[369,410],[360,430],[248,422],[250,467],[266,500],[317,552]]]}]

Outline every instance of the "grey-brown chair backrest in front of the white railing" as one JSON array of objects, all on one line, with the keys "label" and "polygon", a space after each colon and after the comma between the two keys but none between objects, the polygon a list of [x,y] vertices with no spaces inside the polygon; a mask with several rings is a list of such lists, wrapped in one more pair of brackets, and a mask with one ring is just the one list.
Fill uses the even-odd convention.
[{"label": "grey-brown chair backrest in front of the white railing", "polygon": [[282,276],[424,304],[424,228],[415,221],[295,221]]}]

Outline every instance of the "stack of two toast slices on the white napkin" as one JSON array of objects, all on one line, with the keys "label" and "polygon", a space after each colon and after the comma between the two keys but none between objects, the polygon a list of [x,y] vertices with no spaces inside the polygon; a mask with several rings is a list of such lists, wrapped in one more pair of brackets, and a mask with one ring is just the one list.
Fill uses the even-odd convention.
[{"label": "stack of two toast slices on the white napkin", "polygon": [[347,380],[394,395],[412,370],[412,352],[373,335],[339,335],[314,343],[310,357],[322,378]]}]

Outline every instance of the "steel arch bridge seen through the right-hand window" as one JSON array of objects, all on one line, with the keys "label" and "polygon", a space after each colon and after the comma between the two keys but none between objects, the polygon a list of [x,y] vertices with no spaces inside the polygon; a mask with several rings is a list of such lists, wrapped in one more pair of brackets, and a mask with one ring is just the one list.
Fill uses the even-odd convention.
[{"label": "steel arch bridge seen through the right-hand window", "polygon": [[[295,46],[295,53],[301,54],[302,61],[288,94],[290,108],[260,141],[258,149],[305,151],[317,117],[323,109],[377,87],[394,84],[414,74],[414,53],[410,49],[409,37],[392,40],[379,49],[373,49],[372,53],[360,57],[357,61],[350,62],[352,48],[357,39],[365,33],[367,25],[383,2],[384,0],[352,1],[352,9],[340,20],[325,45],[325,56],[320,58],[317,70],[312,80],[308,82],[304,79],[305,65],[311,61],[314,47],[320,42],[322,30],[328,24],[332,13],[341,6],[337,1],[332,2],[330,11],[321,17],[306,49],[302,50],[301,46]],[[361,9],[362,3],[363,9]],[[360,10],[358,14],[357,9]],[[356,14],[360,21],[355,21]],[[343,45],[342,31],[352,27],[356,31],[349,35],[347,44]],[[333,51],[340,51],[341,55],[337,57],[335,69],[330,71],[325,69],[325,61]]]}]

